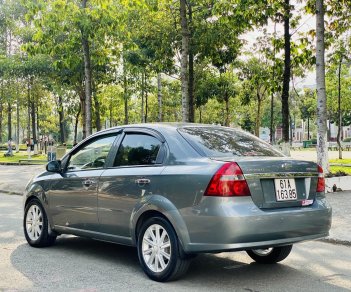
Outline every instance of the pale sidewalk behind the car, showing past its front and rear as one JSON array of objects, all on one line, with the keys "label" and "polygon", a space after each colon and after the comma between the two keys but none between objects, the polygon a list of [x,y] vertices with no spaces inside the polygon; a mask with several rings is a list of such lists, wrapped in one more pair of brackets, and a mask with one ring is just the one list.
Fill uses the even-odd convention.
[{"label": "pale sidewalk behind the car, showing past its front and rear", "polygon": [[[44,165],[0,165],[0,193],[22,195],[28,181],[43,171]],[[328,193],[327,199],[333,207],[333,223],[324,240],[351,246],[351,191]]]}]

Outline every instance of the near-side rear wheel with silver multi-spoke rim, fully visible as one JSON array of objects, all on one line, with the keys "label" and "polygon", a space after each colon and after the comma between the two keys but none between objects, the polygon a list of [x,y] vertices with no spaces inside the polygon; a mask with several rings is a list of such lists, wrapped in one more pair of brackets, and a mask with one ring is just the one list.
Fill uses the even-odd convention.
[{"label": "near-side rear wheel with silver multi-spoke rim, fully visible", "polygon": [[185,256],[172,225],[162,217],[147,219],[138,231],[138,257],[145,274],[152,280],[176,280],[186,273]]}]

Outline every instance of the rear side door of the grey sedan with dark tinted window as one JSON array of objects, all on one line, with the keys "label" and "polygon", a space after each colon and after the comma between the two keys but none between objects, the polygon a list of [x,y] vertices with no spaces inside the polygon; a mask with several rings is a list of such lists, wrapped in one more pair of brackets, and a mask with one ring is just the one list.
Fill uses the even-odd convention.
[{"label": "rear side door of the grey sedan with dark tinted window", "polygon": [[115,159],[100,177],[101,232],[130,237],[132,211],[144,196],[157,192],[165,153],[161,137],[140,130],[125,131]]}]

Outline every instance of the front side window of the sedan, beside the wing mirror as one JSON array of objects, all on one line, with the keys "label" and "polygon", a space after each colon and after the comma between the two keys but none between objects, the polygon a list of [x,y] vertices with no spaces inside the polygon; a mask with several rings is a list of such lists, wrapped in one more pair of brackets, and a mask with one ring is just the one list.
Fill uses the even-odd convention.
[{"label": "front side window of the sedan, beside the wing mirror", "polygon": [[115,139],[116,135],[103,136],[85,145],[71,156],[67,170],[103,168]]}]

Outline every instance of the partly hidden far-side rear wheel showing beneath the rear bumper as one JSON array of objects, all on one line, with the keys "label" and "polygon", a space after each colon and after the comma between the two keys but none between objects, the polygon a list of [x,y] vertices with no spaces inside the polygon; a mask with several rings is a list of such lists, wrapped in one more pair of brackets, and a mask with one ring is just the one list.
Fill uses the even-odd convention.
[{"label": "partly hidden far-side rear wheel showing beneath the rear bumper", "polygon": [[247,250],[247,254],[257,263],[275,264],[284,260],[291,252],[292,245],[278,246],[267,249]]}]

